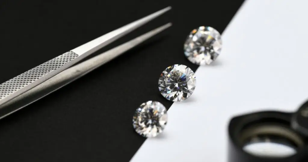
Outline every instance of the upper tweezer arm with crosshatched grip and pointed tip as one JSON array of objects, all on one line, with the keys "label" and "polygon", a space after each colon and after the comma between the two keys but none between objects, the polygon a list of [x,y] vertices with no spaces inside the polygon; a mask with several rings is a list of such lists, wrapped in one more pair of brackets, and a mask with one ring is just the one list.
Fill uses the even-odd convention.
[{"label": "upper tweezer arm with crosshatched grip and pointed tip", "polygon": [[119,39],[170,9],[171,7],[164,8],[163,10],[129,23],[128,25],[116,29],[115,31],[111,31],[0,84],[0,106],[43,83],[61,71],[76,64],[91,53],[112,43],[116,39]]}]

